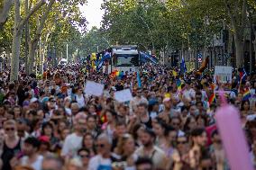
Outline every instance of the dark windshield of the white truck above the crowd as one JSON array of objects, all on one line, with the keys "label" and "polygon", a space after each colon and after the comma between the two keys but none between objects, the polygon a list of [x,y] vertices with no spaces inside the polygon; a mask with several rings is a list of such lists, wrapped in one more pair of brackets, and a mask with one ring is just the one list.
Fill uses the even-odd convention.
[{"label": "dark windshield of the white truck above the crowd", "polygon": [[116,67],[138,67],[139,55],[116,55]]}]

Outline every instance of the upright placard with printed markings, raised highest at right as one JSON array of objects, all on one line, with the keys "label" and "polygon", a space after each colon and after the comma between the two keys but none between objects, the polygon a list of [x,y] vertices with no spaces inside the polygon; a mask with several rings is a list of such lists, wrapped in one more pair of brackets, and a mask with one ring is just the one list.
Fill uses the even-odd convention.
[{"label": "upright placard with printed markings, raised highest at right", "polygon": [[231,83],[232,82],[232,69],[233,67],[215,66],[215,85],[216,79],[219,83]]}]

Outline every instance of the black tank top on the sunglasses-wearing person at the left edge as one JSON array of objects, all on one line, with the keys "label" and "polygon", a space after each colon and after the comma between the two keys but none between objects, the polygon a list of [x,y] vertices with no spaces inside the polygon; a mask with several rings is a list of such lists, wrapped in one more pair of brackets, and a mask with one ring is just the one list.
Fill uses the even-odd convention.
[{"label": "black tank top on the sunglasses-wearing person at the left edge", "polygon": [[21,139],[19,139],[18,144],[14,148],[9,148],[6,144],[4,144],[2,160],[3,160],[3,168],[5,170],[12,170],[10,165],[10,160],[16,156],[21,151]]}]

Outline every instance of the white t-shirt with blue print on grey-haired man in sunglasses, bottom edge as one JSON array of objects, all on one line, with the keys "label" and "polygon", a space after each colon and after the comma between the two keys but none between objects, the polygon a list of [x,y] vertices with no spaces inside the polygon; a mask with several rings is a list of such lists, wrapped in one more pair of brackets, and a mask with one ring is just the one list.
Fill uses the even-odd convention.
[{"label": "white t-shirt with blue print on grey-haired man in sunglasses, bottom edge", "polygon": [[112,161],[110,158],[103,158],[101,157],[101,155],[96,155],[95,157],[92,157],[90,159],[88,170],[97,170],[99,166],[111,167],[111,165],[112,165]]}]

